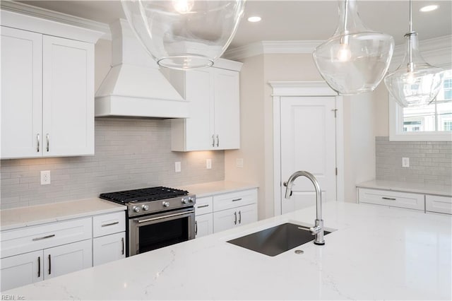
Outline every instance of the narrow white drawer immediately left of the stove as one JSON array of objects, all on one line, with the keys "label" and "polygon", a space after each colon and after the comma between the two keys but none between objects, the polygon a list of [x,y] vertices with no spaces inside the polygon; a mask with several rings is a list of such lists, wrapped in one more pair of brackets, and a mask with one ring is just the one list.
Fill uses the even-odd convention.
[{"label": "narrow white drawer immediately left of the stove", "polygon": [[100,237],[126,230],[126,213],[119,211],[93,216],[93,237]]}]

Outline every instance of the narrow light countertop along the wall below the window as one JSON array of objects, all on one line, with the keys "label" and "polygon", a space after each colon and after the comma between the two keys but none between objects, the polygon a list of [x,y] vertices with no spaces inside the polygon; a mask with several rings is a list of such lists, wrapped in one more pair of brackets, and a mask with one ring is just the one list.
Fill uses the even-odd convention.
[{"label": "narrow light countertop along the wall below the window", "polygon": [[376,180],[356,184],[357,187],[452,196],[452,186]]}]

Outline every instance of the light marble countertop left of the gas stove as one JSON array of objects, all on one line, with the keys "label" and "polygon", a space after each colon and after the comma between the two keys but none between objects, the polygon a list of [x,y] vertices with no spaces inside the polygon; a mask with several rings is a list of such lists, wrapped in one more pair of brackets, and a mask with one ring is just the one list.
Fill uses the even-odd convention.
[{"label": "light marble countertop left of the gas stove", "polygon": [[126,210],[126,206],[99,198],[5,209],[0,211],[0,229],[11,230],[122,210]]}]

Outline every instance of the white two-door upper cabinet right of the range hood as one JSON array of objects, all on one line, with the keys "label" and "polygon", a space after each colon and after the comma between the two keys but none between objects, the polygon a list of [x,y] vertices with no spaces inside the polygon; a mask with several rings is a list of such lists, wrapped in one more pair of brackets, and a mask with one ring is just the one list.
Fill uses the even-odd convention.
[{"label": "white two-door upper cabinet right of the range hood", "polygon": [[239,67],[185,72],[190,117],[172,120],[172,151],[240,148]]}]

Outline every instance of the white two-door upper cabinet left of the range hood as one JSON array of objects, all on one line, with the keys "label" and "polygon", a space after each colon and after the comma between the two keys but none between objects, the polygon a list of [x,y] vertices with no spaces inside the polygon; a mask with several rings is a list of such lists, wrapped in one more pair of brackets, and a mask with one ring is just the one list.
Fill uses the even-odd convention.
[{"label": "white two-door upper cabinet left of the range hood", "polygon": [[93,155],[101,33],[10,11],[1,25],[0,158]]}]

